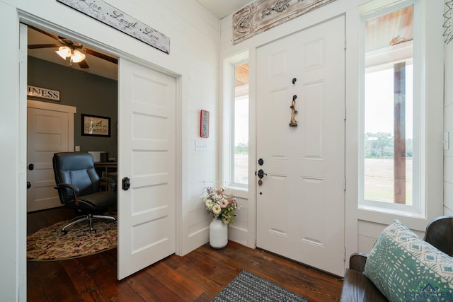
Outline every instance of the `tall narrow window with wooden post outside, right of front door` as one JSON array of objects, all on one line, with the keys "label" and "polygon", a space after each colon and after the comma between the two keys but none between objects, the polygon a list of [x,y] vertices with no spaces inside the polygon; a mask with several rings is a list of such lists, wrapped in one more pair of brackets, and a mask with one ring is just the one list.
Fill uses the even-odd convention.
[{"label": "tall narrow window with wooden post outside, right of front door", "polygon": [[414,1],[362,15],[360,207],[423,215]]}]

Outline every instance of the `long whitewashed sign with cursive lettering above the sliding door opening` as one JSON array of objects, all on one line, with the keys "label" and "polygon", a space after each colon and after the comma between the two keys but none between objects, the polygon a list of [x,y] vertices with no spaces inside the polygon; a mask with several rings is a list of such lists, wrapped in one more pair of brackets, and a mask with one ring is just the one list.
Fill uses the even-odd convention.
[{"label": "long whitewashed sign with cursive lettering above the sliding door opening", "polygon": [[57,0],[76,11],[122,31],[162,52],[170,53],[170,38],[114,8],[103,0]]}]

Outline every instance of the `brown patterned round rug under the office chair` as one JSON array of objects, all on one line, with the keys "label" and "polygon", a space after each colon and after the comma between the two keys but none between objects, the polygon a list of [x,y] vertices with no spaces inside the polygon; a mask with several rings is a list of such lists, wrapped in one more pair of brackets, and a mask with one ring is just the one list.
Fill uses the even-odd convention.
[{"label": "brown patterned round rug under the office chair", "polygon": [[61,221],[41,228],[27,237],[27,259],[29,261],[59,261],[93,255],[117,247],[117,221],[94,219],[96,233],[91,232],[88,221],[62,228],[69,221]]}]

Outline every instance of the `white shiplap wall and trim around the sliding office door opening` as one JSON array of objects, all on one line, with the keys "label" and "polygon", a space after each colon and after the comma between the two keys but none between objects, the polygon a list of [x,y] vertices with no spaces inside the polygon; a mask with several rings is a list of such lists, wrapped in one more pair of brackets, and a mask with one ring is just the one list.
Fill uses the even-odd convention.
[{"label": "white shiplap wall and trim around the sliding office door opening", "polygon": [[[219,20],[195,0],[109,0],[108,3],[170,37],[170,54],[135,40],[55,0],[0,0],[0,292],[2,301],[25,301],[26,100],[19,96],[19,21],[58,29],[74,39],[96,41],[105,50],[134,56],[180,76],[178,188],[181,204],[178,253],[208,240],[210,217],[200,195],[203,180],[217,176],[217,89]],[[98,44],[99,43],[99,44]],[[119,83],[121,85],[121,83]],[[210,110],[207,151],[195,152],[200,109]],[[119,142],[120,143],[120,142]]]}]

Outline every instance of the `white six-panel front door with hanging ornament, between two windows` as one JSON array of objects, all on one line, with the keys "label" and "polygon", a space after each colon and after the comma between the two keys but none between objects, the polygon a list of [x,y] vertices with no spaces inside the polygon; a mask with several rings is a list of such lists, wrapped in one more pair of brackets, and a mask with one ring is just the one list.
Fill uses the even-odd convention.
[{"label": "white six-panel front door with hanging ornament, between two windows", "polygon": [[[257,246],[344,273],[345,20],[257,50]],[[297,127],[291,127],[292,100]],[[258,181],[259,178],[256,178]],[[259,185],[261,184],[261,185]]]}]

